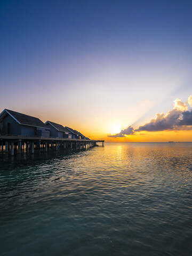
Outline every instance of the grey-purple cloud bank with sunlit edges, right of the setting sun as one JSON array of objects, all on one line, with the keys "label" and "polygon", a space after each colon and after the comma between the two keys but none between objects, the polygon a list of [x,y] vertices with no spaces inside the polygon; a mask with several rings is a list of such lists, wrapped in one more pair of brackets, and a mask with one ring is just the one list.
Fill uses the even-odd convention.
[{"label": "grey-purple cloud bank with sunlit edges, right of the setting sun", "polygon": [[192,126],[189,127],[192,125],[192,110],[188,110],[188,105],[192,107],[192,95],[189,96],[186,103],[182,102],[180,99],[175,99],[173,102],[173,109],[166,114],[158,113],[154,119],[151,119],[149,123],[139,126],[138,129],[129,126],[127,129],[117,134],[108,135],[108,137],[125,137],[125,135],[141,131],[192,130]]}]

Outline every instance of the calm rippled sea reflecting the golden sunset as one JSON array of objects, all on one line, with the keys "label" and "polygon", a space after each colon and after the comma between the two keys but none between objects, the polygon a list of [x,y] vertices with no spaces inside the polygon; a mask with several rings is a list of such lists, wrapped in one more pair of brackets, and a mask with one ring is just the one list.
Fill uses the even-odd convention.
[{"label": "calm rippled sea reflecting the golden sunset", "polygon": [[192,143],[0,156],[0,255],[192,255]]}]

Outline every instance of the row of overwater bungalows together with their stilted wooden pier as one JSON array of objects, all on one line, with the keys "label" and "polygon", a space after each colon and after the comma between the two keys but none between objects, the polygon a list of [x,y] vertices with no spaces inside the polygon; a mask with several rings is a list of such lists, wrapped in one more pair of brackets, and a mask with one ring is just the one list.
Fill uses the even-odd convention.
[{"label": "row of overwater bungalows together with their stilted wooden pier", "polygon": [[24,147],[34,154],[34,149],[47,152],[47,148],[88,149],[104,140],[90,140],[81,132],[51,121],[45,124],[37,117],[4,109],[0,114],[0,150],[20,153]]}]

